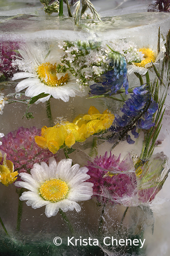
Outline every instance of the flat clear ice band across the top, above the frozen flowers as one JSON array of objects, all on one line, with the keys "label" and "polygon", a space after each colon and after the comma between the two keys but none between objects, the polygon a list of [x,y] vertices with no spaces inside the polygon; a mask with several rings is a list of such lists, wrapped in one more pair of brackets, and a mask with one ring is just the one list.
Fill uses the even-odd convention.
[{"label": "flat clear ice band across the top, above the frozen flowers", "polygon": [[[163,12],[143,12],[103,18],[104,23],[91,23],[82,20],[80,26],[74,19],[62,20],[55,16],[17,15],[0,17],[1,40],[86,40],[101,38],[114,41],[119,38],[134,41],[138,47],[151,47],[156,50],[158,29],[165,35],[170,27],[170,15]],[[150,35],[152,31],[152,35]]]}]

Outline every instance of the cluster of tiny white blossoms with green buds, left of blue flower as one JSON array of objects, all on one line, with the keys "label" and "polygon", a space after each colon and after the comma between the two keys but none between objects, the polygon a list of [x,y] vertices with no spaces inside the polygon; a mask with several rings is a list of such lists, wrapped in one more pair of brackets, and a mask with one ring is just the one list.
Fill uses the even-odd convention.
[{"label": "cluster of tiny white blossoms with green buds, left of blue flower", "polygon": [[65,42],[59,43],[59,48],[65,52],[62,62],[70,67],[81,90],[89,81],[95,81],[110,68],[107,54],[98,42]]}]

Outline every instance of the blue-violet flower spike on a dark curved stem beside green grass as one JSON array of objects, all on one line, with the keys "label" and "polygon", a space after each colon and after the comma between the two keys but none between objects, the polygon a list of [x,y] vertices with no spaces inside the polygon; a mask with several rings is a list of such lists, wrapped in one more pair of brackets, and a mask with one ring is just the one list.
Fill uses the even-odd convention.
[{"label": "blue-violet flower spike on a dark curved stem beside green grass", "polygon": [[143,84],[133,90],[130,99],[125,101],[120,110],[123,115],[115,114],[115,127],[112,126],[111,131],[119,133],[119,137],[123,136],[122,139],[126,139],[128,143],[132,144],[134,141],[129,134],[127,135],[127,132],[131,131],[134,138],[137,138],[139,134],[136,132],[136,128],[150,129],[154,126],[153,114],[158,110],[158,103],[152,99],[147,84]]}]

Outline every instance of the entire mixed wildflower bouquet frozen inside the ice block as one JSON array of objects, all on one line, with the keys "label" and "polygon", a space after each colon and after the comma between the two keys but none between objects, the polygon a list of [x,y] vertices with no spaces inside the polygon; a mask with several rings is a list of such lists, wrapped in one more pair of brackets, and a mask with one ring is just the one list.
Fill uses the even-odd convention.
[{"label": "entire mixed wildflower bouquet frozen inside the ice block", "polygon": [[[49,14],[55,9],[61,15],[62,1],[49,5],[49,1],[42,0],[42,3]],[[83,17],[84,9],[89,6],[93,9],[89,0],[81,3],[82,13],[80,1],[75,5],[76,23]],[[92,13],[95,17],[94,9]],[[22,224],[21,201],[26,201],[33,209],[45,206],[48,218],[59,213],[66,224],[69,223],[70,229],[71,221],[68,219],[70,216],[73,219],[74,214],[69,215],[68,211],[75,209],[79,212],[81,204],[78,202],[96,198],[91,204],[97,201],[96,208],[102,212],[100,217],[97,216],[99,211],[96,214],[99,236],[103,235],[101,220],[104,221],[104,215],[113,226],[107,209],[112,209],[114,214],[114,207],[126,207],[123,216],[121,213],[122,220],[116,229],[112,228],[118,234],[127,231],[125,227],[125,232],[122,232],[123,220],[130,206],[149,209],[168,175],[167,157],[163,153],[155,154],[154,148],[158,144],[156,140],[161,130],[169,87],[169,42],[170,32],[164,46],[166,53],[161,51],[160,33],[157,52],[150,48],[138,49],[135,43],[123,39],[113,42],[54,40],[41,44],[31,41],[30,44],[16,47],[17,55],[10,59],[10,65],[14,68],[12,85],[16,85],[16,93],[7,96],[0,94],[0,113],[3,113],[6,103],[23,102],[27,105],[24,116],[32,119],[33,113],[28,113],[28,108],[41,102],[34,106],[41,112],[42,103],[46,102],[48,117],[42,120],[44,126],[41,126],[41,131],[36,127],[19,127],[6,136],[0,134],[0,182],[5,186],[14,183],[20,198],[17,231]],[[161,60],[157,62],[160,55],[163,56],[163,64]],[[153,70],[151,79],[150,68]],[[131,72],[132,69],[135,74]],[[155,79],[153,74],[156,75]],[[132,79],[128,79],[131,75]],[[135,84],[131,82],[133,76],[139,79],[135,77]],[[31,99],[24,98],[27,96]],[[100,112],[91,106],[88,113],[80,109],[77,116],[76,108],[79,105],[76,96],[86,96],[91,102],[94,101],[94,105],[100,104],[100,109],[106,109],[102,105],[107,105],[108,109]],[[16,100],[11,100],[12,97]],[[50,105],[51,98],[54,98],[53,105]],[[59,122],[54,123],[52,108],[56,103],[59,111],[62,111],[63,106],[70,108],[67,114],[73,117],[72,122],[65,119],[63,111],[61,117],[57,116]],[[73,110],[74,105],[76,108]],[[132,157],[127,143],[137,145],[136,139],[141,151],[139,149],[138,155],[134,153]],[[116,145],[122,141],[125,141],[122,151],[126,145],[126,152],[112,154],[112,148],[119,151]],[[102,145],[103,142],[105,144]],[[79,143],[80,148],[75,143]],[[101,155],[97,152],[98,145],[102,148]],[[64,154],[66,159],[60,160]],[[80,163],[81,167],[72,162]],[[3,223],[1,219],[0,222]]]}]

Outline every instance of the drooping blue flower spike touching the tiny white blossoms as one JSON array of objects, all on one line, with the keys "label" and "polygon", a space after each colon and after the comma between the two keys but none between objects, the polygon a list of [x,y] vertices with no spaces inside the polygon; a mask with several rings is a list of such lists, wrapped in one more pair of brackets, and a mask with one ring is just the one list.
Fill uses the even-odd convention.
[{"label": "drooping blue flower spike touching the tiny white blossoms", "polygon": [[91,94],[101,95],[109,93],[111,95],[120,90],[122,86],[125,88],[125,93],[128,94],[129,84],[125,58],[118,52],[110,52],[108,59],[111,61],[109,65],[112,70],[102,75],[100,82],[90,86]]}]

